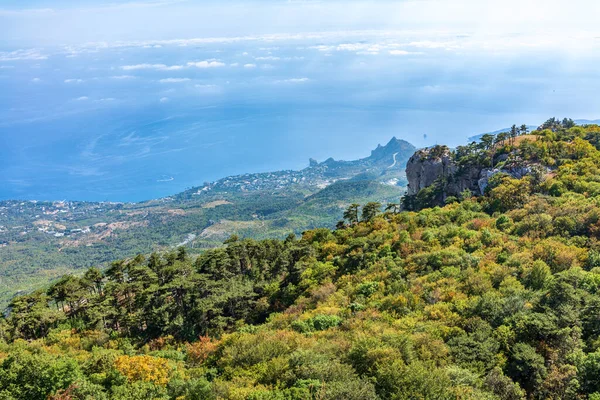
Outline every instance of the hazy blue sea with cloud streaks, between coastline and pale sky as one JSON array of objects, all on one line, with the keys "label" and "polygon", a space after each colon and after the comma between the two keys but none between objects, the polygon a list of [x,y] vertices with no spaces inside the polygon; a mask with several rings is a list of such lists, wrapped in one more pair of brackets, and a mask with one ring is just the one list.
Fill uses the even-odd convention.
[{"label": "hazy blue sea with cloud streaks, between coastline and pale sky", "polygon": [[476,39],[5,44],[0,199],[141,201],[310,157],[366,157],[392,136],[455,146],[551,116],[598,117],[597,53],[573,64],[554,49],[491,52]]}]

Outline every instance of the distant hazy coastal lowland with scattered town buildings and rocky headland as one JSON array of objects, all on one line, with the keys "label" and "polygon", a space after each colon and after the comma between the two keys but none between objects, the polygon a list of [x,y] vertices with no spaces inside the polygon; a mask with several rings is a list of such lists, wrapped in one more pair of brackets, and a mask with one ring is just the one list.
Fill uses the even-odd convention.
[{"label": "distant hazy coastal lowland with scattered town buildings and rocky headland", "polygon": [[15,293],[116,258],[232,234],[285,237],[333,227],[354,202],[398,202],[415,147],[393,138],[366,158],[312,160],[300,171],[230,176],[141,203],[0,202],[0,305]]}]

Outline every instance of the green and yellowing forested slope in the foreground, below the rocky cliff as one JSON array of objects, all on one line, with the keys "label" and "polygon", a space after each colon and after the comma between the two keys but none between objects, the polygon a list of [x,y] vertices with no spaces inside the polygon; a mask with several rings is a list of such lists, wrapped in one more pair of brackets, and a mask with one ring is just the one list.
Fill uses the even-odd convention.
[{"label": "green and yellowing forested slope in the foreground, below the rocky cliff", "polygon": [[531,167],[481,196],[65,276],[12,301],[0,398],[600,399],[599,148],[552,120],[450,155]]}]

